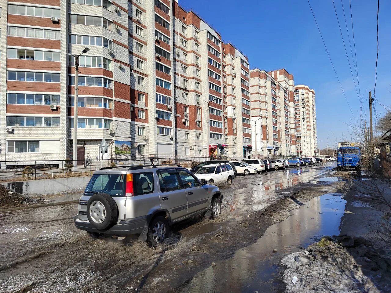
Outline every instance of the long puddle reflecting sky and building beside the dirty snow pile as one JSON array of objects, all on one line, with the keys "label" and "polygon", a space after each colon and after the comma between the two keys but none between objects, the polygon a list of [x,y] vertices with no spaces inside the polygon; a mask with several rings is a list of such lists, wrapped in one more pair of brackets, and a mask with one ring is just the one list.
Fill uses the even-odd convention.
[{"label": "long puddle reflecting sky and building beside the dirty snow pile", "polygon": [[[253,245],[195,275],[172,292],[281,292],[280,277],[286,254],[319,241],[322,236],[339,234],[346,201],[342,194],[315,197],[292,211],[287,220],[270,226]],[[273,253],[273,249],[277,252]]]}]

